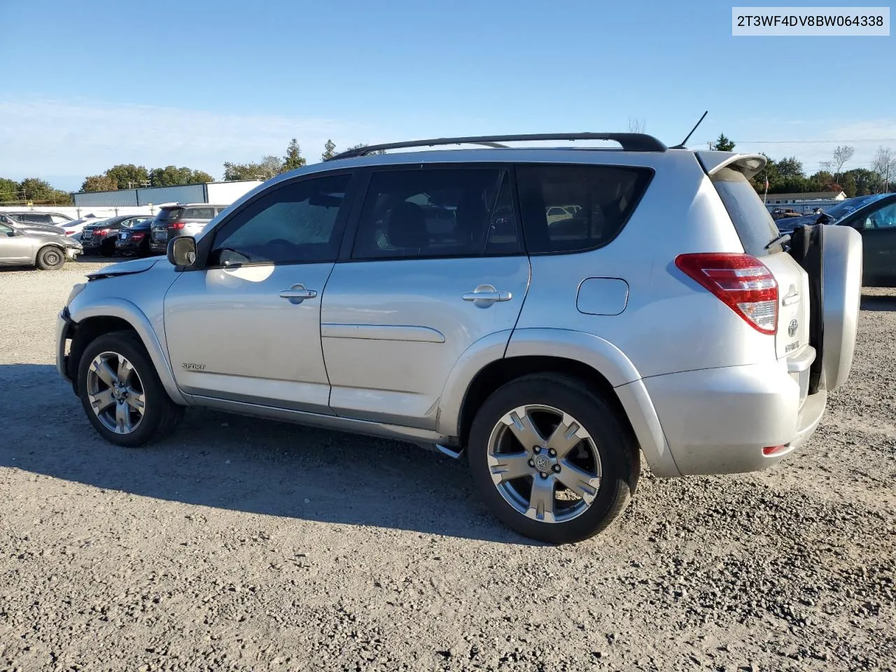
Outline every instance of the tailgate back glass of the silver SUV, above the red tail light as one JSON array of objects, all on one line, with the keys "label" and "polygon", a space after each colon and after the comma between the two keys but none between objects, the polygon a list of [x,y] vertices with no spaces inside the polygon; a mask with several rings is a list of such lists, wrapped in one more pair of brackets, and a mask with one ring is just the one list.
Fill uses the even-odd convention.
[{"label": "tailgate back glass of the silver SUV, above the red tail light", "polygon": [[778,237],[778,227],[745,175],[733,168],[721,168],[712,176],[712,184],[725,203],[744,252],[769,254],[765,246]]}]

